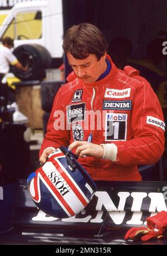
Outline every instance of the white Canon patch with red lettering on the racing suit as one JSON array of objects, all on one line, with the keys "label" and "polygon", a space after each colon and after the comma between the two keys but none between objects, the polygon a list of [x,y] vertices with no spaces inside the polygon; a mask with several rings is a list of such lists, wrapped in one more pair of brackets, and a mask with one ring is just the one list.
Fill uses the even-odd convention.
[{"label": "white Canon patch with red lettering on the racing suit", "polygon": [[131,90],[131,88],[126,88],[124,90],[107,88],[105,91],[104,97],[105,98],[116,98],[116,99],[128,98],[128,97],[130,97],[130,90]]}]

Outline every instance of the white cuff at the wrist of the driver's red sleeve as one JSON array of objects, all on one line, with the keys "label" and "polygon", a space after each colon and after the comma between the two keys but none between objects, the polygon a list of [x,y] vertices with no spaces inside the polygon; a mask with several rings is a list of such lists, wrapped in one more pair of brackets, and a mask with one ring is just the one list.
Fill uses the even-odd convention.
[{"label": "white cuff at the wrist of the driver's red sleeve", "polygon": [[117,157],[117,146],[114,143],[101,144],[104,147],[103,159],[110,161],[116,161]]}]

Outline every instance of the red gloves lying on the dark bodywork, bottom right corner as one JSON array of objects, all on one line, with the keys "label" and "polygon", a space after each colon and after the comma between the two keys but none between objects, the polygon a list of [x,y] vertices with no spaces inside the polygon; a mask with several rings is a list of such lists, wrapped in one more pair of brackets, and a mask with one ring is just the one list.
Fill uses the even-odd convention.
[{"label": "red gloves lying on the dark bodywork, bottom right corner", "polygon": [[153,238],[167,238],[167,212],[161,211],[155,216],[148,217],[147,228],[131,228],[125,234],[125,240],[136,240],[141,238],[142,241],[148,241]]}]

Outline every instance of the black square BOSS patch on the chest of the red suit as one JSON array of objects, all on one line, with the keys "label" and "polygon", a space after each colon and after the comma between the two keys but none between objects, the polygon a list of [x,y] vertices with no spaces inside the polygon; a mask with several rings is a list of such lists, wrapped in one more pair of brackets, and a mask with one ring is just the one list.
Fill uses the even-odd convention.
[{"label": "black square BOSS patch on the chest of the red suit", "polygon": [[85,103],[67,106],[68,124],[85,120]]}]

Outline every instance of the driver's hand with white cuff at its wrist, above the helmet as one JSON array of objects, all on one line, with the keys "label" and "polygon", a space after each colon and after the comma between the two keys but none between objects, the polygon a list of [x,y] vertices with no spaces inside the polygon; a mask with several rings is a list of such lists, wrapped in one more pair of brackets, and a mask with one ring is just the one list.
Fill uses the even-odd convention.
[{"label": "driver's hand with white cuff at its wrist, above the helmet", "polygon": [[68,147],[71,151],[76,148],[75,154],[78,157],[92,156],[101,158],[104,154],[104,147],[86,141],[74,141]]}]

